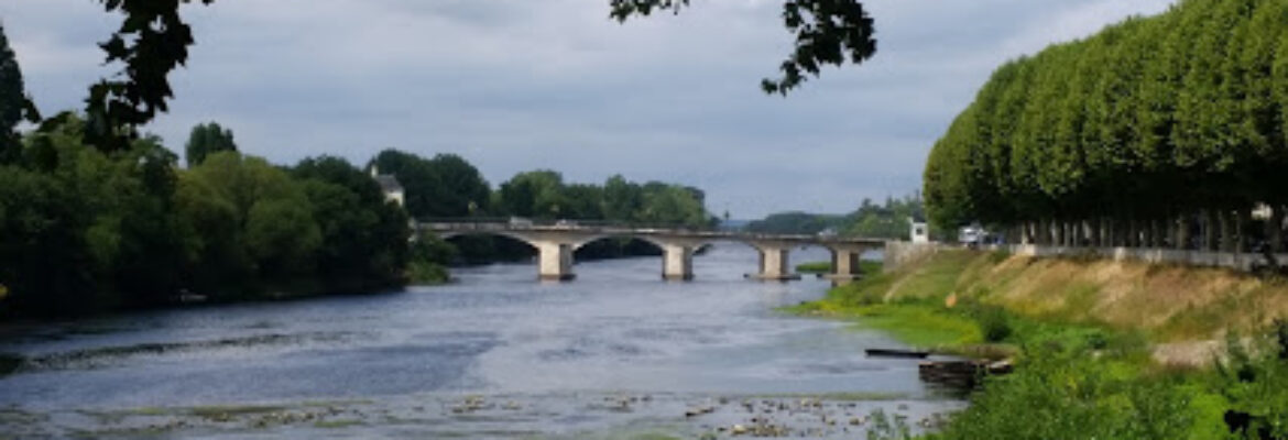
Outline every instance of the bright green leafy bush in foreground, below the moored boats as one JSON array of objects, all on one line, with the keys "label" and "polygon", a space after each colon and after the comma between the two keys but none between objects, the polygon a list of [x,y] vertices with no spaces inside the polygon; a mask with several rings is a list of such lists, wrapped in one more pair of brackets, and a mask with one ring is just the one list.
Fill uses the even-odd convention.
[{"label": "bright green leafy bush in foreground, below the moored boats", "polygon": [[[1182,380],[1086,350],[1038,345],[1010,376],[990,377],[935,436],[978,439],[1198,439],[1218,416]],[[1195,427],[1208,432],[1197,435]]]}]

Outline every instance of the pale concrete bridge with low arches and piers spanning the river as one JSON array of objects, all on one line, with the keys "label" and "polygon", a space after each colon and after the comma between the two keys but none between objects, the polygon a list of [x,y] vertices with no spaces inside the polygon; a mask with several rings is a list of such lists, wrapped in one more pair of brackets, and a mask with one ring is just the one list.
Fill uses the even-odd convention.
[{"label": "pale concrete bridge with low arches and piers spanning the river", "polygon": [[859,278],[859,256],[866,251],[885,247],[885,241],[868,238],[750,234],[719,230],[692,230],[675,228],[647,228],[612,224],[555,221],[425,221],[416,224],[417,234],[431,232],[444,239],[459,235],[502,235],[518,239],[537,250],[537,270],[541,279],[569,280],[573,252],[591,242],[605,238],[636,238],[662,250],[662,278],[670,280],[693,279],[693,253],[699,247],[717,241],[742,242],[760,252],[760,268],[751,278],[765,280],[800,279],[788,265],[788,253],[795,247],[820,246],[832,252],[831,279]]}]

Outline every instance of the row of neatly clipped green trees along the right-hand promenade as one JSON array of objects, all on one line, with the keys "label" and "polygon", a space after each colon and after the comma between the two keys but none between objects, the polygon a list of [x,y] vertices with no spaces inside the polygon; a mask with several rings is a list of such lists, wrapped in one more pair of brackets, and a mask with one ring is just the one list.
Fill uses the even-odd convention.
[{"label": "row of neatly clipped green trees along the right-hand promenade", "polygon": [[[931,220],[1036,243],[1279,250],[1285,31],[1285,1],[1184,0],[1006,63],[930,154]],[[1251,221],[1258,206],[1267,221]]]}]

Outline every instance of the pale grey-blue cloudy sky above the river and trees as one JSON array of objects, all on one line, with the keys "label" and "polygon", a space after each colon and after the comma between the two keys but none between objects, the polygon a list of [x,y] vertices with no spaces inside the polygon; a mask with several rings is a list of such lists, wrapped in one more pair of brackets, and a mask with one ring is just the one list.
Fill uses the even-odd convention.
[{"label": "pale grey-blue cloudy sky above the river and trees", "polygon": [[[219,0],[184,8],[198,44],[147,130],[182,152],[218,121],[278,163],[393,147],[457,153],[493,184],[532,169],[675,181],[743,219],[845,212],[917,190],[1001,62],[1170,3],[867,0],[877,57],[779,98],[759,91],[791,44],[775,0],[625,26],[608,0]],[[46,113],[109,72],[95,42],[118,17],[97,0],[4,0],[0,19]]]}]

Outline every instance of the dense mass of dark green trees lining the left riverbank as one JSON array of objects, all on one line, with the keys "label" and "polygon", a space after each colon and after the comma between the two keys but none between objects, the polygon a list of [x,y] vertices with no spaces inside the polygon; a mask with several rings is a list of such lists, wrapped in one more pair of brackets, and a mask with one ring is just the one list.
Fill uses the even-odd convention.
[{"label": "dense mass of dark green trees lining the left riverbank", "polygon": [[408,275],[407,215],[363,171],[234,151],[182,170],[161,139],[84,143],[58,115],[0,163],[0,316],[370,292]]}]

